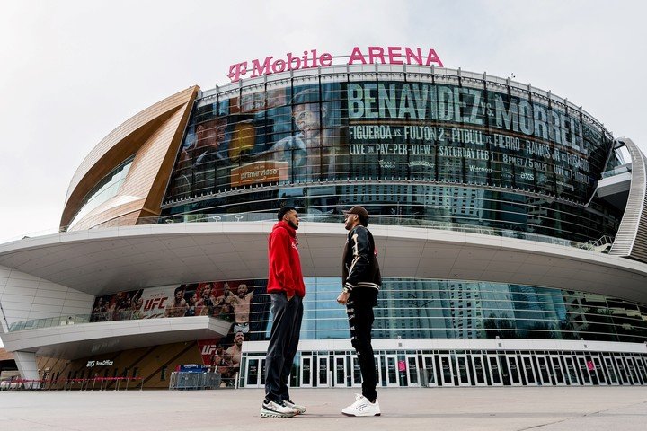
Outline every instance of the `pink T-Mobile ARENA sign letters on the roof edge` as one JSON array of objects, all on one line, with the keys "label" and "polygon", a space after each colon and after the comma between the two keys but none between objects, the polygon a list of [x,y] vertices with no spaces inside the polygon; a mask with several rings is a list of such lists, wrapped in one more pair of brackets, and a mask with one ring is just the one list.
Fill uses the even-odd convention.
[{"label": "pink T-Mobile ARENA sign letters on the roof edge", "polygon": [[[423,52],[427,55],[423,55]],[[262,75],[278,74],[289,70],[309,69],[318,66],[332,66],[332,55],[328,52],[319,54],[316,49],[303,51],[303,55],[295,56],[291,52],[284,58],[274,58],[272,56],[264,59],[256,58],[251,61],[252,75],[251,78]],[[346,57],[343,57],[346,58]],[[408,47],[368,47],[362,51],[359,47],[353,48],[348,57],[348,65],[372,65],[381,63],[383,65],[416,65],[442,67],[442,61],[433,48],[422,51],[421,48]],[[250,71],[250,62],[235,63],[229,66],[229,79],[232,83],[239,81]]]}]

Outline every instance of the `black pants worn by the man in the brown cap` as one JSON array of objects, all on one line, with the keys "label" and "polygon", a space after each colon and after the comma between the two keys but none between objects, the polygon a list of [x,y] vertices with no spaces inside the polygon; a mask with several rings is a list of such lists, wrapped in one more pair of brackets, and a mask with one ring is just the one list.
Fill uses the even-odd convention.
[{"label": "black pants worn by the man in the brown cap", "polygon": [[365,298],[351,299],[346,303],[346,313],[350,325],[350,343],[357,352],[359,371],[362,374],[362,395],[369,401],[375,402],[377,377],[375,356],[371,345],[371,329],[375,320],[373,303]]}]

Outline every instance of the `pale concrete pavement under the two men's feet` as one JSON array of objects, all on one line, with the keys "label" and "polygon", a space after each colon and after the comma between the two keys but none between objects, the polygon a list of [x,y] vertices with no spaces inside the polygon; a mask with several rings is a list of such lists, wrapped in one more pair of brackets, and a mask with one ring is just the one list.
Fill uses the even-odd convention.
[{"label": "pale concrete pavement under the two men's feet", "polygon": [[261,418],[263,391],[4,391],[0,430],[647,429],[647,387],[378,388],[382,416],[347,418],[353,389],[293,389],[305,415]]}]

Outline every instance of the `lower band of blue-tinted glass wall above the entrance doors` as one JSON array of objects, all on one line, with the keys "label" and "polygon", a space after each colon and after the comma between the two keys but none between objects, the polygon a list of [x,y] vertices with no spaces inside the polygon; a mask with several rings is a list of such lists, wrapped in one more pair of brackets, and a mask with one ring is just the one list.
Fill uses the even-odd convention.
[{"label": "lower band of blue-tinted glass wall above the entrance doors", "polygon": [[[269,296],[257,284],[251,339],[269,339]],[[302,339],[348,339],[338,277],[306,277]],[[375,339],[587,339],[647,341],[647,308],[605,295],[453,280],[384,280]]]}]

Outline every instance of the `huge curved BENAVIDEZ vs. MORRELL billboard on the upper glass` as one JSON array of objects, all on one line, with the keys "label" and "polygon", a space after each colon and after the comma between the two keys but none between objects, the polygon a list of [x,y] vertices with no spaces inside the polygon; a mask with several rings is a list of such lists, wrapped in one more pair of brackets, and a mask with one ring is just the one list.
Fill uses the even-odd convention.
[{"label": "huge curved BENAVIDEZ vs. MORRELL billboard on the upper glass", "polygon": [[410,81],[279,81],[204,98],[172,196],[381,179],[589,200],[611,139],[580,110],[510,87]]}]

